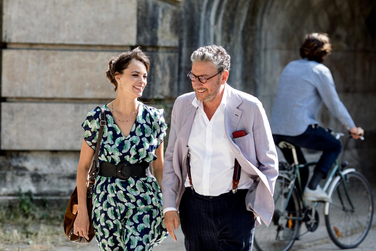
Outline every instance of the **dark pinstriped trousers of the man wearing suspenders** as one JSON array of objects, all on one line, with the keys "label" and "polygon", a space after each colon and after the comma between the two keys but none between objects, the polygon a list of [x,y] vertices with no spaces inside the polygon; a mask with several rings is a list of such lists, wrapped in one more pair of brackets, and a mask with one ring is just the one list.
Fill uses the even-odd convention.
[{"label": "dark pinstriped trousers of the man wearing suspenders", "polygon": [[187,251],[252,251],[255,217],[246,209],[248,189],[203,196],[187,187],[180,223]]}]

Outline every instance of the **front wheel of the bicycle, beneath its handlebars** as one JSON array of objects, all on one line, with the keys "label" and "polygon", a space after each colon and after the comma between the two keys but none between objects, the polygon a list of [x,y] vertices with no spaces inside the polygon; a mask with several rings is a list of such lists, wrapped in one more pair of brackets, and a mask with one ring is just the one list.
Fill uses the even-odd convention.
[{"label": "front wheel of the bicycle, beneath its handlebars", "polygon": [[372,217],[373,197],[367,179],[356,171],[347,173],[335,184],[325,216],[330,238],[340,248],[355,248],[367,236]]}]

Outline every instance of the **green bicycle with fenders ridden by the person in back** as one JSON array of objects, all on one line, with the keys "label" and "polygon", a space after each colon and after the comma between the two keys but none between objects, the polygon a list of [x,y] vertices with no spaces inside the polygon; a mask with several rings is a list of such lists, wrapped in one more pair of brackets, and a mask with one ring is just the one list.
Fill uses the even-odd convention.
[{"label": "green bicycle with fenders ridden by the person in back", "polygon": [[[331,132],[337,139],[343,133]],[[343,148],[352,138],[349,136]],[[364,138],[361,138],[362,140]],[[319,215],[317,205],[311,207],[303,201],[299,169],[313,166],[317,162],[299,164],[293,145],[282,141],[280,147],[290,148],[294,163],[280,163],[279,175],[274,188],[274,214],[269,227],[261,225],[256,228],[254,243],[259,251],[287,251],[295,240],[317,229]],[[347,161],[341,164],[338,159],[327,176],[323,190],[331,197],[331,202],[323,202],[326,229],[329,237],[340,248],[355,248],[364,238],[372,224],[373,196],[367,179],[354,168],[347,168]],[[296,183],[297,181],[297,183]],[[297,189],[299,186],[300,189]],[[301,224],[307,231],[300,234]]]}]

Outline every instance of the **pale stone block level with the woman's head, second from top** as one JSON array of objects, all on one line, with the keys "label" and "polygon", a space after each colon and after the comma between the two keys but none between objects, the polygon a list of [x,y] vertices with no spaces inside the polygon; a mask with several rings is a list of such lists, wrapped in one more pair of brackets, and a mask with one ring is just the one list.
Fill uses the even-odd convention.
[{"label": "pale stone block level with the woman's head, second from top", "polygon": [[116,54],[3,50],[2,96],[111,99],[115,97],[115,92],[106,78],[106,71],[109,59]]}]

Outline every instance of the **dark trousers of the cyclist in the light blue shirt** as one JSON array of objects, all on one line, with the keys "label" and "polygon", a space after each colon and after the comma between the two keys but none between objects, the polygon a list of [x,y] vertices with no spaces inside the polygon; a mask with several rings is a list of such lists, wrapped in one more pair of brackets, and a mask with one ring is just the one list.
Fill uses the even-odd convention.
[{"label": "dark trousers of the cyclist in the light blue shirt", "polygon": [[[309,125],[303,134],[297,136],[274,134],[273,140],[276,145],[278,145],[280,141],[287,141],[288,143],[294,145],[296,148],[298,162],[300,164],[306,163],[302,150],[300,149],[301,147],[323,151],[323,154],[315,167],[315,172],[322,172],[324,174],[323,178],[326,178],[327,173],[341,152],[341,142],[333,137],[333,135],[327,132],[324,128],[317,125]],[[292,164],[294,160],[291,149],[281,148],[281,151],[287,162]],[[299,171],[302,181],[302,189],[304,190],[307,184],[309,170],[308,167],[305,167],[300,168]]]}]

